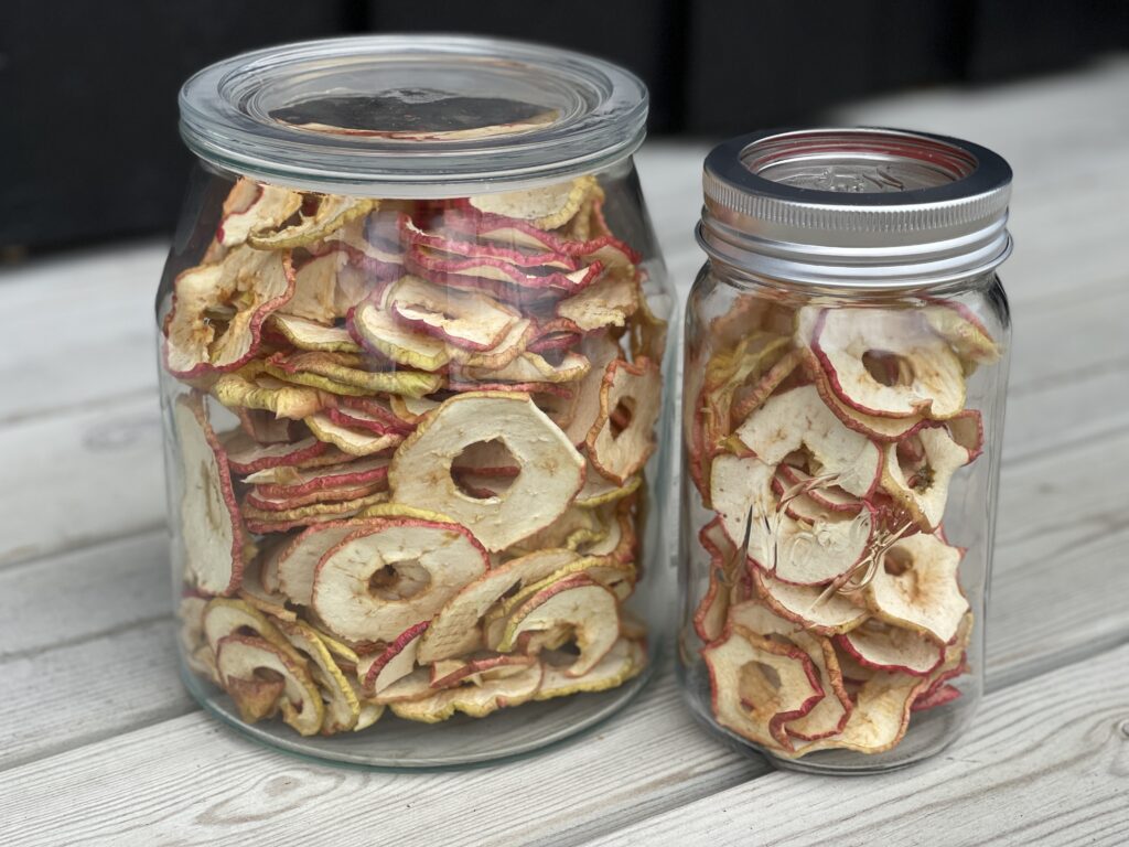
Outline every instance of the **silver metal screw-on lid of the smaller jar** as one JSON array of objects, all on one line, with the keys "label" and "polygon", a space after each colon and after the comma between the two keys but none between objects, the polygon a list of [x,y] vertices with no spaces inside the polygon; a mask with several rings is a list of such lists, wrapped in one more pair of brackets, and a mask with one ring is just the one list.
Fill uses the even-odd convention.
[{"label": "silver metal screw-on lid of the smaller jar", "polygon": [[758,276],[905,288],[989,271],[1012,250],[1012,168],[944,136],[755,132],[715,147],[702,185],[702,248]]}]

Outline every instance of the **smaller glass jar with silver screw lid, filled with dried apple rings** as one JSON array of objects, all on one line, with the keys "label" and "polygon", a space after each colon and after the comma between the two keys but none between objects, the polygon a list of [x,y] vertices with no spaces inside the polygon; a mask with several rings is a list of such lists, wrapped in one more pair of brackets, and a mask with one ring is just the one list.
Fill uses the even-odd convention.
[{"label": "smaller glass jar with silver screw lid, filled with dried apple rings", "polygon": [[761,132],[706,159],[680,672],[700,721],[776,765],[896,768],[975,711],[1010,178],[895,130]]}]

